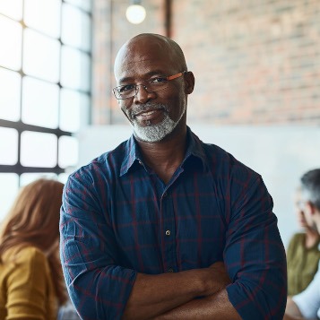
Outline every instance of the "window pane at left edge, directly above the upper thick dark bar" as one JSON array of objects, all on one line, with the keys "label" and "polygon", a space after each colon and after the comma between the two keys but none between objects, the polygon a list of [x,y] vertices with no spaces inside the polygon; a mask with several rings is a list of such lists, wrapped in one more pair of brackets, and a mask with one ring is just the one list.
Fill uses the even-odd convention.
[{"label": "window pane at left edge, directly above the upper thick dark bar", "polygon": [[21,76],[0,67],[0,118],[18,121],[20,119]]}]

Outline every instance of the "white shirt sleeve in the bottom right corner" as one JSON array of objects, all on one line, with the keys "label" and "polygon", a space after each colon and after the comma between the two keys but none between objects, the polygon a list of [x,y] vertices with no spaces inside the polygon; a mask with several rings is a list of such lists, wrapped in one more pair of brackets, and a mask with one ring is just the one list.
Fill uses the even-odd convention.
[{"label": "white shirt sleeve in the bottom right corner", "polygon": [[320,310],[320,271],[316,272],[314,280],[307,286],[307,289],[293,296],[292,300],[304,318],[316,319]]}]

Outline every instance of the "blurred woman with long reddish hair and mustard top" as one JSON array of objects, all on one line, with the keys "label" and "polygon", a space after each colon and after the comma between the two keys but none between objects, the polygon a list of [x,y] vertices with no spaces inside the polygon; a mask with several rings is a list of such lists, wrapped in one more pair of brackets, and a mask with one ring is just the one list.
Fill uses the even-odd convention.
[{"label": "blurred woman with long reddish hair and mustard top", "polygon": [[64,185],[40,178],[22,187],[0,229],[0,320],[56,320],[67,300],[58,257]]}]

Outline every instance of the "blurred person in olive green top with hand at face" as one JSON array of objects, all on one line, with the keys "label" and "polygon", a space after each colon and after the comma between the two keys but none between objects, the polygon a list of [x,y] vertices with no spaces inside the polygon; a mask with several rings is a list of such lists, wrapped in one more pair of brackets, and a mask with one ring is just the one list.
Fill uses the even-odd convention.
[{"label": "blurred person in olive green top with hand at face", "polygon": [[[316,171],[311,172],[314,172],[316,177]],[[319,234],[312,225],[307,223],[304,212],[306,201],[311,201],[311,199],[306,199],[305,197],[312,195],[303,191],[306,190],[306,184],[309,183],[307,179],[308,175],[311,175],[311,173],[301,178],[301,186],[298,187],[296,192],[295,204],[298,223],[304,229],[304,232],[296,233],[291,238],[287,250],[289,296],[296,295],[307,288],[316,274],[320,259],[320,251],[318,249],[320,242]],[[320,182],[318,183],[320,185]]]}]

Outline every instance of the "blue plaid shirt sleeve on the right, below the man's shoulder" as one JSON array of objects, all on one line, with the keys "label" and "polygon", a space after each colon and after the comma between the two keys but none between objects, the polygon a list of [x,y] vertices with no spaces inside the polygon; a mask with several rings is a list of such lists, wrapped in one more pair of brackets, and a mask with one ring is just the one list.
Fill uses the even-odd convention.
[{"label": "blue plaid shirt sleeve on the right, below the man's shoulder", "polygon": [[[237,184],[237,188],[233,185]],[[260,176],[233,177],[224,251],[229,301],[243,319],[282,319],[287,299],[284,247],[272,197]]]}]

